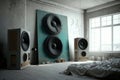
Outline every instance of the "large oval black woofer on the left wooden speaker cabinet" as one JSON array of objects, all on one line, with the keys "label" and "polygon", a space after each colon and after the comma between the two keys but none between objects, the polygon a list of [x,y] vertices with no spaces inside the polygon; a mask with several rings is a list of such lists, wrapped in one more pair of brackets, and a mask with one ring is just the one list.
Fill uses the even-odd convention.
[{"label": "large oval black woofer on the left wooden speaker cabinet", "polygon": [[23,31],[21,35],[21,46],[24,51],[27,51],[30,45],[30,39],[27,32]]}]

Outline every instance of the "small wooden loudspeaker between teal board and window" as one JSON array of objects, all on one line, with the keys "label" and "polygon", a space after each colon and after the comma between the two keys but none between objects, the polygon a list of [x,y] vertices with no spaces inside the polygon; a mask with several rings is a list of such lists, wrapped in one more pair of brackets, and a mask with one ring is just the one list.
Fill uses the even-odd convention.
[{"label": "small wooden loudspeaker between teal board and window", "polygon": [[75,61],[84,59],[88,53],[88,41],[85,38],[74,39]]}]

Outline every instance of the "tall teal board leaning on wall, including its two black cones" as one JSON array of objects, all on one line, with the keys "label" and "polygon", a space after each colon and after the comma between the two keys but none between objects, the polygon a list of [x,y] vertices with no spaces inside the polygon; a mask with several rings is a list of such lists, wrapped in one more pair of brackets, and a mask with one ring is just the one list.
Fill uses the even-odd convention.
[{"label": "tall teal board leaning on wall, including its two black cones", "polygon": [[39,64],[69,60],[67,17],[37,10]]}]

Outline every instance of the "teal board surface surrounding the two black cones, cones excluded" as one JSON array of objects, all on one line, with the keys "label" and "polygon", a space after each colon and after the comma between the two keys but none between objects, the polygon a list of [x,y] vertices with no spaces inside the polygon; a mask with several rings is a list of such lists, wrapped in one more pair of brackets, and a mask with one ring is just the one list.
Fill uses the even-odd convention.
[{"label": "teal board surface surrounding the two black cones, cones excluded", "polygon": [[[63,15],[55,14],[61,21],[62,29],[61,32],[57,35],[63,44],[62,53],[57,58],[51,58],[45,53],[44,51],[44,40],[50,36],[50,34],[46,33],[42,25],[42,19],[46,14],[49,14],[50,12],[42,11],[42,10],[36,10],[37,13],[37,38],[38,38],[38,61],[39,64],[46,63],[46,62],[54,62],[56,59],[63,58],[65,61],[69,60],[69,46],[68,46],[68,25],[67,25],[67,17]],[[53,13],[54,14],[54,13]]]}]

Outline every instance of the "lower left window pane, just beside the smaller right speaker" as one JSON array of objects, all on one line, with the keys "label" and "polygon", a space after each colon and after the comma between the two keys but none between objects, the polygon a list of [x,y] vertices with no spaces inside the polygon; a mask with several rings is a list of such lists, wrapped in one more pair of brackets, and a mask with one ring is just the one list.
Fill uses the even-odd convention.
[{"label": "lower left window pane, just beside the smaller right speaker", "polygon": [[100,51],[100,28],[90,30],[90,51]]}]

